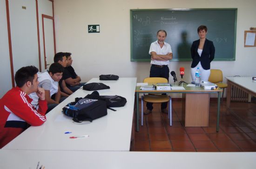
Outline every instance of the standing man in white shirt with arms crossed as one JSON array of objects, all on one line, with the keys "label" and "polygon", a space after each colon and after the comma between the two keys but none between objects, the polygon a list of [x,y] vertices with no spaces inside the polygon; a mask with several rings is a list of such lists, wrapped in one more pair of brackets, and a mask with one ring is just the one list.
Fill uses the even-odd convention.
[{"label": "standing man in white shirt with arms crossed", "polygon": [[[157,41],[151,43],[149,54],[151,55],[151,68],[149,77],[163,77],[169,80],[169,60],[172,59],[172,49],[170,44],[164,42],[167,33],[159,30],[156,33]],[[162,113],[168,114],[166,110],[167,102],[161,104]],[[152,113],[153,103],[147,103],[147,110],[144,114]]]}]

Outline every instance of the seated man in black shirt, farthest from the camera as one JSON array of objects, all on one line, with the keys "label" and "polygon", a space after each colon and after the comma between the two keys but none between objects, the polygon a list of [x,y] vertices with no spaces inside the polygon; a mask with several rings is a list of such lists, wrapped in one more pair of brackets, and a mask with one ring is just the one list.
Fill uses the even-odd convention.
[{"label": "seated man in black shirt, farthest from the camera", "polygon": [[67,67],[65,68],[67,71],[65,71],[64,79],[67,85],[67,88],[69,88],[71,91],[76,91],[77,89],[81,88],[85,83],[81,83],[81,78],[78,76],[72,65],[72,58],[71,53],[66,52],[65,56],[67,57]]}]

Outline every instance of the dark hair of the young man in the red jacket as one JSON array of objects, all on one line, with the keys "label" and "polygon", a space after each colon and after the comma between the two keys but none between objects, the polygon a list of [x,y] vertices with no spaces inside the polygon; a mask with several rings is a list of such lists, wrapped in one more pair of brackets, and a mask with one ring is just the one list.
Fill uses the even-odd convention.
[{"label": "dark hair of the young man in the red jacket", "polygon": [[21,88],[27,81],[33,84],[34,75],[38,72],[38,69],[34,66],[22,67],[15,73],[14,79],[16,85]]}]

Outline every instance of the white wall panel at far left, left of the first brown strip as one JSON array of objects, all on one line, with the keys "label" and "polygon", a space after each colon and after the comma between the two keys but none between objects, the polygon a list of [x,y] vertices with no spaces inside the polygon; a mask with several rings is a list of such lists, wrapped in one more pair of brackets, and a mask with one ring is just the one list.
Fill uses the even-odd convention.
[{"label": "white wall panel at far left, left of the first brown strip", "polygon": [[0,0],[0,52],[1,52],[1,66],[0,66],[0,98],[6,91],[12,88],[11,65],[9,55],[9,41],[7,30],[7,16],[6,16],[5,0]]}]

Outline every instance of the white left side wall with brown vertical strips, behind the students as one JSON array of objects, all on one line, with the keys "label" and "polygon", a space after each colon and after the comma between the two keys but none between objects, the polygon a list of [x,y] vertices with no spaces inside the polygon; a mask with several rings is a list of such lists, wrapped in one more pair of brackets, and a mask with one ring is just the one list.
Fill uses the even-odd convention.
[{"label": "white left side wall with brown vertical strips, behind the students", "polygon": [[[15,72],[23,66],[34,65],[39,68],[39,52],[36,22],[36,0],[8,0],[10,12],[10,30]],[[26,6],[27,9],[22,9]],[[40,52],[44,69],[42,15],[53,16],[52,2],[38,0]],[[9,44],[7,31],[6,0],[0,0],[0,98],[12,88]]]}]

